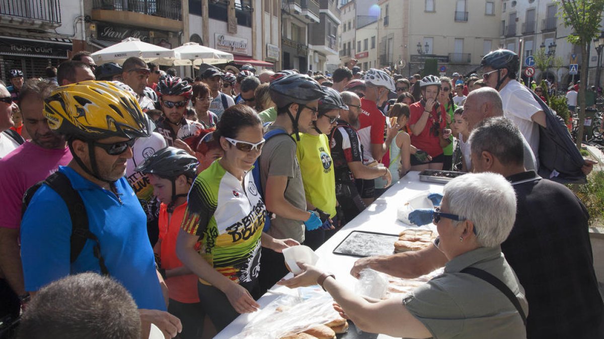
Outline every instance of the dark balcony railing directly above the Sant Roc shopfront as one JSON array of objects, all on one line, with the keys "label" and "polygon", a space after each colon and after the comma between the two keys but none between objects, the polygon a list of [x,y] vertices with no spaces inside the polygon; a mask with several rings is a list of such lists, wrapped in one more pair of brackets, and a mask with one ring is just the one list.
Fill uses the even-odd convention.
[{"label": "dark balcony railing directly above the Sant Roc shopfront", "polygon": [[167,19],[182,20],[180,0],[94,0],[92,9],[131,11]]}]

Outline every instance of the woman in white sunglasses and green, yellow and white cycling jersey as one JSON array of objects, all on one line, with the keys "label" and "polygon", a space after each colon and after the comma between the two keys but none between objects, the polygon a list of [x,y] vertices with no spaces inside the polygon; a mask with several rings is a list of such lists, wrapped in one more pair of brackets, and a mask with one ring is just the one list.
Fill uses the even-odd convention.
[{"label": "woman in white sunglasses and green, yellow and white cycling jersey", "polygon": [[[214,138],[225,156],[195,179],[176,241],[182,263],[199,277],[199,299],[217,331],[256,311],[260,246],[281,252],[298,244],[262,232],[266,209],[250,172],[264,145],[254,109],[225,110]],[[262,241],[261,241],[262,239]]]}]

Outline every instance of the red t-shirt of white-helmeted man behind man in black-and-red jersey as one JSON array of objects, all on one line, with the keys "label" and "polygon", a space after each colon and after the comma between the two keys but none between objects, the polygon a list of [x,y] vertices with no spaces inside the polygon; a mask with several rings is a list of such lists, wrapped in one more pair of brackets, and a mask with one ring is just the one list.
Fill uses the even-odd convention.
[{"label": "red t-shirt of white-helmeted man behind man in black-and-red jersey", "polygon": [[384,125],[386,116],[377,109],[375,101],[361,99],[361,114],[359,114],[359,139],[363,146],[363,162],[373,162],[371,144],[384,144]]}]

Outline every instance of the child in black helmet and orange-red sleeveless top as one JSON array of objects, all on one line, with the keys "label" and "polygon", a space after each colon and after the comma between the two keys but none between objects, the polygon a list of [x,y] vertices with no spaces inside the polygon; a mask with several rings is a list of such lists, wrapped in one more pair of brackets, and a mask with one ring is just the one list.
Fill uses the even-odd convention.
[{"label": "child in black helmet and orange-red sleeveless top", "polygon": [[187,193],[196,177],[198,161],[184,150],[166,147],[153,153],[136,171],[149,177],[153,194],[161,201],[159,241],[153,252],[159,255],[159,271],[168,286],[168,312],[181,320],[183,339],[199,338],[204,329],[204,308],[197,293],[197,276],[176,257],[176,236],[180,229]]}]

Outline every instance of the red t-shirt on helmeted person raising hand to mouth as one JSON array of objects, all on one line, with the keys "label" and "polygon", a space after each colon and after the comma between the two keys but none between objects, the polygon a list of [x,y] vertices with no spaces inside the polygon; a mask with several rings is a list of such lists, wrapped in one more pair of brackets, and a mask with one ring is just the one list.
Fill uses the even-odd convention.
[{"label": "red t-shirt on helmeted person raising hand to mouth", "polygon": [[[419,119],[422,117],[423,110],[424,106],[420,101],[409,106],[409,125],[414,125],[417,121],[419,121]],[[443,128],[445,128],[445,125],[443,125],[442,122],[442,117],[445,114],[444,106],[440,105],[439,110],[440,114],[437,115],[437,110],[432,108],[432,112],[428,117],[428,121],[426,122],[426,126],[423,128],[422,133],[419,135],[411,135],[411,145],[414,145],[420,150],[428,152],[428,154],[430,154],[432,157],[443,154],[443,148],[440,147],[440,137],[435,135],[434,129],[431,130],[432,126],[436,122],[440,122],[439,133]]]}]

